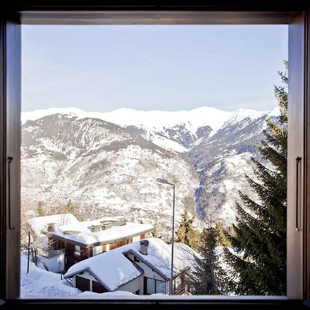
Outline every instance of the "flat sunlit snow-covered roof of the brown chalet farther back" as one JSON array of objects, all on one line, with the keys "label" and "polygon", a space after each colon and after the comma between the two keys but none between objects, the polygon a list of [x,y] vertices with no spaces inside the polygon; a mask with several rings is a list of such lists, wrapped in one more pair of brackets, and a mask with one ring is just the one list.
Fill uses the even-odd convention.
[{"label": "flat sunlit snow-covered roof of the brown chalet farther back", "polygon": [[[91,231],[92,225],[101,225],[101,222],[105,220],[107,220],[107,218],[87,220],[84,222],[56,227],[56,230],[52,231],[51,234],[53,234],[55,238],[71,242],[73,241],[82,247],[89,247],[90,245],[105,245],[117,240],[138,236],[154,229],[154,226],[150,224],[127,222],[125,225],[116,225],[109,229],[96,232]],[[74,233],[70,234],[70,231],[74,231]]]}]

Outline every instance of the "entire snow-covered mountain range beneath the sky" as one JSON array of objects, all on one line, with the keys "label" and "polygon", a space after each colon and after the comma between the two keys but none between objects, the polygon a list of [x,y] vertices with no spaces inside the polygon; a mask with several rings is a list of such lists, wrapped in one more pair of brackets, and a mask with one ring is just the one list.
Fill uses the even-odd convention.
[{"label": "entire snow-covered mountain range beneath the sky", "polygon": [[[76,108],[22,114],[23,204],[45,208],[69,198],[87,214],[126,214],[130,220],[171,220],[176,183],[177,220],[185,207],[201,220],[227,225],[236,216],[238,189],[249,192],[254,143],[263,138],[271,112],[213,107],[163,112],[119,109],[107,113]],[[196,201],[196,205],[195,205]],[[91,217],[91,216],[90,216]],[[94,216],[92,216],[94,217]]]}]

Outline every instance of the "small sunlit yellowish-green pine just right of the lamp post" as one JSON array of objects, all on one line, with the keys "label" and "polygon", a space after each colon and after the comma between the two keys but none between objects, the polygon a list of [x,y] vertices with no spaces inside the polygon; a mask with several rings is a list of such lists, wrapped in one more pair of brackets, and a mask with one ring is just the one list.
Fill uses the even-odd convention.
[{"label": "small sunlit yellowish-green pine just right of the lamp post", "polygon": [[193,226],[194,218],[189,218],[187,209],[182,214],[182,221],[176,231],[176,242],[183,242],[192,249],[198,249],[199,232]]}]

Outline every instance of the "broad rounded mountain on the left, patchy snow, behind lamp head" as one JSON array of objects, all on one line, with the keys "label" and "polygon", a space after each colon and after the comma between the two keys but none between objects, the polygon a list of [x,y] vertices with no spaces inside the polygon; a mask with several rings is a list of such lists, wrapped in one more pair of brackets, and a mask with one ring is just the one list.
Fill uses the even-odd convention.
[{"label": "broad rounded mountain on the left, patchy snow, behind lamp head", "polygon": [[71,199],[80,219],[122,215],[168,233],[172,188],[156,182],[167,178],[176,184],[176,220],[185,205],[195,214],[192,165],[128,128],[57,113],[25,121],[21,134],[23,209],[42,201],[52,214]]}]

